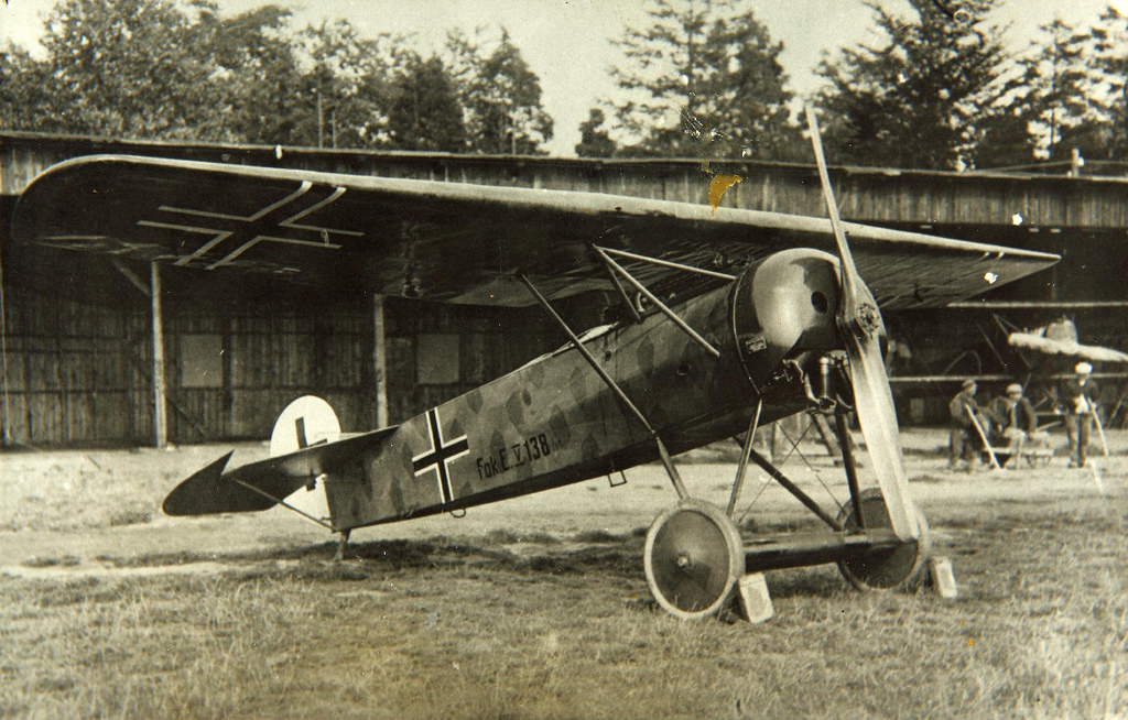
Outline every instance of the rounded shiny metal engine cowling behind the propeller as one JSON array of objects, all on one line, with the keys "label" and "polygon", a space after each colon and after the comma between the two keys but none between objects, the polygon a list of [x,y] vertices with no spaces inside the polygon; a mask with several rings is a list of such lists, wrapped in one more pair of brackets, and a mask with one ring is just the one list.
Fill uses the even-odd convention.
[{"label": "rounded shiny metal engine cowling behind the propeller", "polygon": [[803,350],[841,347],[835,318],[838,259],[811,248],[783,250],[749,268],[732,291],[737,353],[757,392]]}]

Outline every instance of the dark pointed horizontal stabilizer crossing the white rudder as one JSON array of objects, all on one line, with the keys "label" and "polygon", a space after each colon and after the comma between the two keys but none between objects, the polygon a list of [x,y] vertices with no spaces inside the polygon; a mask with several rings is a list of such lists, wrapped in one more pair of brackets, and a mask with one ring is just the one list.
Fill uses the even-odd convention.
[{"label": "dark pointed horizontal stabilizer crossing the white rudder", "polygon": [[223,472],[232,454],[228,453],[176,486],[165,498],[165,514],[217,515],[270,509],[318,477],[332,475],[347,463],[355,463],[395,430],[395,426],[386,427]]}]

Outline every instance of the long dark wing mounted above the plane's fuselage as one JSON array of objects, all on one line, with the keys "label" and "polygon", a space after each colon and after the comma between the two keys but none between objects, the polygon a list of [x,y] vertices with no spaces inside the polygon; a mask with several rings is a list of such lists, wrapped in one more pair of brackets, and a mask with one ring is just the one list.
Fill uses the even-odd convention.
[{"label": "long dark wing mounted above the plane's fuselage", "polygon": [[[884,309],[942,305],[1056,256],[847,223]],[[17,242],[270,274],[326,288],[483,305],[610,290],[592,243],[738,272],[785,248],[834,249],[828,221],[596,193],[91,155],[21,195]],[[625,263],[647,285],[678,270]]]}]

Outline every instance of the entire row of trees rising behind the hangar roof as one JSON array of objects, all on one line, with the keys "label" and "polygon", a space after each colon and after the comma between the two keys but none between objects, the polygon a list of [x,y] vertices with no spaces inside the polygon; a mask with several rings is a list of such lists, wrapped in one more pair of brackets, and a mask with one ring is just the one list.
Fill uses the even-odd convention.
[{"label": "entire row of trees rising behind the hangar roof", "polygon": [[[1128,160],[1128,20],[1060,19],[1005,46],[996,0],[870,6],[873,39],[827,53],[809,98],[747,0],[651,0],[616,42],[614,98],[591,108],[585,157],[810,159],[801,100],[837,163],[964,169]],[[294,29],[267,5],[62,0],[37,60],[0,51],[0,127],[131,139],[543,153],[553,121],[503,28],[411,36],[347,21]]]}]

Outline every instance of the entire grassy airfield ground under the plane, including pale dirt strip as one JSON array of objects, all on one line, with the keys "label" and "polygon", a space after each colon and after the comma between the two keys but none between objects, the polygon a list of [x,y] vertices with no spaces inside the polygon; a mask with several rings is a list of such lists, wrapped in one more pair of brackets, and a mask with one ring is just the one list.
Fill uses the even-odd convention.
[{"label": "entire grassy airfield ground under the plane, including pale dirt strip", "polygon": [[[0,717],[1128,715],[1128,435],[1099,474],[1061,457],[949,473],[941,433],[905,441],[960,598],[786,570],[763,625],[651,601],[643,534],[673,503],[660,468],[359,531],[342,565],[284,510],[160,516],[223,448],[0,455]],[[844,500],[804,451],[813,470],[785,472]],[[733,465],[705,460],[687,486],[724,503]],[[757,495],[747,532],[816,526],[754,474]]]}]

